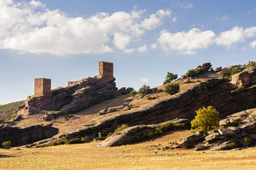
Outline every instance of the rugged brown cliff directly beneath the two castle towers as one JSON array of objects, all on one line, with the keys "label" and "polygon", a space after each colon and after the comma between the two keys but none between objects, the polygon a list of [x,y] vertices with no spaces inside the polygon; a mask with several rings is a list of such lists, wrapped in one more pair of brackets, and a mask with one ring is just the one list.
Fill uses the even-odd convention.
[{"label": "rugged brown cliff directly beneath the two castle towers", "polygon": [[114,77],[88,77],[72,86],[53,89],[43,96],[32,96],[19,107],[18,115],[24,117],[34,113],[75,113],[100,101],[127,94],[131,88],[117,91]]}]

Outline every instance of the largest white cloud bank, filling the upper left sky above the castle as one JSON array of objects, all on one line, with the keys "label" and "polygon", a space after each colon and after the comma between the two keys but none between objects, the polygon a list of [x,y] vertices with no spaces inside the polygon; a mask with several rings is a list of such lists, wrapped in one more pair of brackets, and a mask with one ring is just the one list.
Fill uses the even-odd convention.
[{"label": "largest white cloud bank, filling the upper left sky above the castle", "polygon": [[0,0],[0,49],[52,55],[133,52],[128,47],[132,40],[139,41],[146,30],[161,26],[163,18],[171,16],[169,10],[148,18],[143,13],[119,11],[72,18],[46,8],[41,1]]}]

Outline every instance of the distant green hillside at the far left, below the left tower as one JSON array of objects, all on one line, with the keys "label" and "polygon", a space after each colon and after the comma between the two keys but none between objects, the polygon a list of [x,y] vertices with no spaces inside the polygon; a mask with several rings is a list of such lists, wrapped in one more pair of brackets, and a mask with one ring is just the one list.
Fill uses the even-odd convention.
[{"label": "distant green hillside at the far left, below the left tower", "polygon": [[13,112],[16,111],[18,106],[21,106],[23,102],[24,101],[16,101],[6,105],[0,105],[0,119],[5,120],[6,118],[11,118]]}]

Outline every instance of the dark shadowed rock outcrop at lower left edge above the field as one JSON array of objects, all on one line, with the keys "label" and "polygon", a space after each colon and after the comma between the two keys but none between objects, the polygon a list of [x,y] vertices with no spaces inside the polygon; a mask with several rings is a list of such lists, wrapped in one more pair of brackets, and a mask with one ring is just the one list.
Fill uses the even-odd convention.
[{"label": "dark shadowed rock outcrop at lower left edge above the field", "polygon": [[0,143],[10,140],[12,146],[21,146],[53,137],[58,134],[58,129],[52,125],[33,125],[28,128],[0,127]]}]

